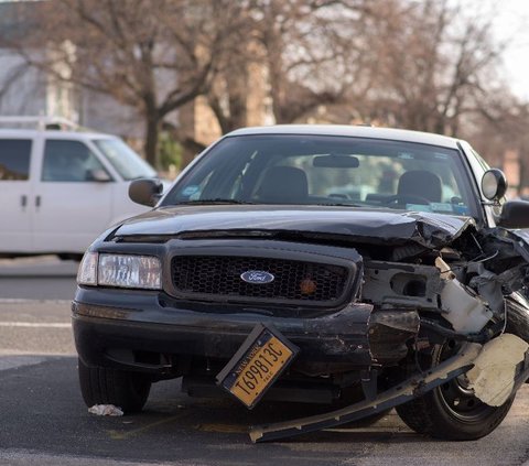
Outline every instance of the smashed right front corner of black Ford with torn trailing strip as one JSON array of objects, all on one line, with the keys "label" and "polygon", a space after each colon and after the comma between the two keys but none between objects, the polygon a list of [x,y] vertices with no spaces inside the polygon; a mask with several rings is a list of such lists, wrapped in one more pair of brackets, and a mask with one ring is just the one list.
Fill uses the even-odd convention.
[{"label": "smashed right front corner of black Ford with torn trailing strip", "polygon": [[[527,243],[507,230],[469,229],[441,249],[417,253],[411,247],[400,261],[382,260],[370,247],[359,250],[364,279],[357,299],[373,305],[373,365],[361,375],[363,399],[325,414],[255,426],[251,440],[299,435],[390,408],[434,436],[474,440],[489,433],[494,427],[486,425],[501,422],[529,380],[529,307],[519,293],[528,275]],[[424,401],[413,404],[417,399]],[[438,411],[429,407],[436,400],[443,400]],[[440,412],[461,418],[444,431]]]}]

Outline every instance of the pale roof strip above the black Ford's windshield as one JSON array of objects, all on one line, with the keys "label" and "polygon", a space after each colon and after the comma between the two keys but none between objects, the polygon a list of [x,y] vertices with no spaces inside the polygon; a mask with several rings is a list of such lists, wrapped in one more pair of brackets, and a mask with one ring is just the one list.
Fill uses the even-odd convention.
[{"label": "pale roof strip above the black Ford's windshield", "polygon": [[451,149],[457,149],[458,142],[458,140],[455,138],[449,138],[447,136],[434,134],[431,132],[345,124],[276,124],[269,127],[242,128],[231,131],[226,136],[231,137],[250,134],[345,136],[419,142],[422,144],[441,145]]}]

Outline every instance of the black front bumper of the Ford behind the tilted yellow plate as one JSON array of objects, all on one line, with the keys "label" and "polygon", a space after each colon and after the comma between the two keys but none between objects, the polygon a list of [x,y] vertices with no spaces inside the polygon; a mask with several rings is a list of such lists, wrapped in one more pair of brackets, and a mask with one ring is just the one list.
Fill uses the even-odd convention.
[{"label": "black front bumper of the Ford behind the tilted yellow plate", "polygon": [[[151,291],[79,288],[72,304],[79,357],[89,366],[174,373],[182,356],[230,359],[260,323],[274,326],[300,347],[292,368],[303,373],[365,369],[380,362],[374,354],[380,346],[380,326],[374,324],[378,319],[373,318],[370,304],[349,303],[323,316],[285,318],[241,306],[168,306],[164,297]],[[410,321],[409,313],[399,315]],[[370,344],[370,335],[377,336],[377,343]],[[399,330],[391,345],[402,348],[410,335]],[[400,350],[384,348],[386,359],[393,353],[396,360],[402,357]]]}]

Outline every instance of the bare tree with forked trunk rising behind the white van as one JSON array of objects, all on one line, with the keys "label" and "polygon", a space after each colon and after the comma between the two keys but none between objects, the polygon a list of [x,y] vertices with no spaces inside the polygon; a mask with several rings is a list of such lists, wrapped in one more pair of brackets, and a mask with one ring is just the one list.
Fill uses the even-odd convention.
[{"label": "bare tree with forked trunk rising behind the white van", "polygon": [[[239,20],[230,0],[51,0],[42,7],[40,28],[18,50],[55,78],[134,108],[153,164],[163,119],[207,91]],[[47,53],[28,53],[35,43]]]}]

